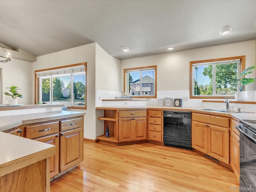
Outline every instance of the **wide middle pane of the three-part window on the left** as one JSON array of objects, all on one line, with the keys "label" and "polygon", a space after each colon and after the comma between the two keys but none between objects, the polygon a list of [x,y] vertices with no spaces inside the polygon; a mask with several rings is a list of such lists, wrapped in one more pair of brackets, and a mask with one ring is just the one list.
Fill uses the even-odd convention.
[{"label": "wide middle pane of the three-part window on the left", "polygon": [[52,79],[52,99],[53,103],[60,103],[64,105],[70,105],[70,76],[55,76]]}]

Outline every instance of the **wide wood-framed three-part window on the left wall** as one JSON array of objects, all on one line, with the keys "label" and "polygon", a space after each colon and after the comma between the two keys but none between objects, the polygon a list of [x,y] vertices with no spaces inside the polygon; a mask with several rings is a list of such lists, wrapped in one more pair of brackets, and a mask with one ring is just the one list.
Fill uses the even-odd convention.
[{"label": "wide wood-framed three-part window on the left wall", "polygon": [[36,102],[86,109],[86,63],[35,71]]}]

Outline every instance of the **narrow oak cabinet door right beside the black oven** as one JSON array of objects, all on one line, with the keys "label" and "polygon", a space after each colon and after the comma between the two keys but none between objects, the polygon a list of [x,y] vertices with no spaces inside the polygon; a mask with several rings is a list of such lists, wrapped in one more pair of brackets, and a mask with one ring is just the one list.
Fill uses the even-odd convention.
[{"label": "narrow oak cabinet door right beside the black oven", "polygon": [[236,175],[236,178],[239,180],[239,174],[240,174],[240,169],[239,169],[239,136],[232,131],[231,132],[231,151],[230,151],[230,165],[234,171],[234,174]]}]

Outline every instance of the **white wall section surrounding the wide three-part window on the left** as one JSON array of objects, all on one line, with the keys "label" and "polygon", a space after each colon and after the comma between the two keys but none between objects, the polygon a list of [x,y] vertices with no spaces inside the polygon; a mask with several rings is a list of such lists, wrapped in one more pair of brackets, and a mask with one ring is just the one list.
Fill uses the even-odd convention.
[{"label": "white wall section surrounding the wide three-part window on the left", "polygon": [[[70,64],[87,62],[87,110],[84,116],[84,138],[96,138],[96,113],[95,113],[95,46],[91,43],[52,54],[37,57],[33,62],[33,71]],[[34,76],[31,78],[34,84]],[[34,89],[31,90],[34,97]],[[79,110],[75,110],[79,111]]]}]

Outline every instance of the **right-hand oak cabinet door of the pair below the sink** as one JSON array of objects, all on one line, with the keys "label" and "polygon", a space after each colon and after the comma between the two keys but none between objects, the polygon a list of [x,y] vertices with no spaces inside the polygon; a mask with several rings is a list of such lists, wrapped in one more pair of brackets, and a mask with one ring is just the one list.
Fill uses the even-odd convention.
[{"label": "right-hand oak cabinet door of the pair below the sink", "polygon": [[208,127],[208,155],[229,163],[229,129],[214,125]]}]

